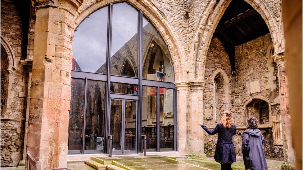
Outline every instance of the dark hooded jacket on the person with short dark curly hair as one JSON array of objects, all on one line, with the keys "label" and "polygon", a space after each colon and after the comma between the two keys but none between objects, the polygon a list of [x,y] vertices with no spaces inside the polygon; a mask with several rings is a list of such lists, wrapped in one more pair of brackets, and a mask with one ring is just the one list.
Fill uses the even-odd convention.
[{"label": "dark hooded jacket on the person with short dark curly hair", "polygon": [[259,129],[246,129],[243,132],[242,154],[245,169],[268,169],[263,150],[264,141]]}]

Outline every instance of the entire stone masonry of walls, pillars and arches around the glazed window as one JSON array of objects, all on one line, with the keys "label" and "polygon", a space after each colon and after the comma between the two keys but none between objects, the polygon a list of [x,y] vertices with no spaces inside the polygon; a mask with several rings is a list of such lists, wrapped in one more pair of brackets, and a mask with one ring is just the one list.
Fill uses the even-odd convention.
[{"label": "entire stone masonry of walls, pillars and arches around the glazed window", "polygon": [[[230,109],[238,127],[234,143],[237,154],[241,155],[245,118],[267,110],[267,106],[257,107],[264,101],[269,111],[260,117],[265,122],[260,129],[267,140],[266,156],[293,163],[281,0],[245,1],[260,13],[270,33],[236,47],[237,72],[232,76],[222,43],[216,38],[212,40],[231,0],[126,0],[142,10],[171,54],[180,154],[212,155],[215,136],[204,133],[198,123],[214,127],[221,112]],[[112,2],[120,0],[32,1],[27,59],[33,59],[33,66],[29,81],[30,71],[20,62],[24,34],[21,19],[11,0],[1,0],[1,49],[6,50],[8,59],[8,66],[1,63],[1,71],[9,70],[7,74],[1,73],[1,92],[6,93],[6,97],[1,96],[5,98],[1,101],[1,109],[4,108],[1,110],[1,166],[17,166],[25,145],[44,169],[66,167],[74,29],[90,13]],[[256,107],[250,108],[252,103]],[[283,146],[274,145],[272,137],[272,116],[278,108]],[[255,113],[251,113],[253,109]]]}]

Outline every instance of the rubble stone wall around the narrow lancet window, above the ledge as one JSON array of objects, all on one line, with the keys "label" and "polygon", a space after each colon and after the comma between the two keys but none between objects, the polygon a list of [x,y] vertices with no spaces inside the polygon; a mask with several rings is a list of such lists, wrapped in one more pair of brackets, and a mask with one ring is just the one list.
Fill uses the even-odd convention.
[{"label": "rubble stone wall around the narrow lancet window, above the ledge", "polygon": [[210,47],[206,57],[206,66],[205,66],[205,81],[206,85],[204,86],[204,123],[207,126],[215,126],[215,101],[214,101],[214,81],[216,83],[216,93],[217,93],[217,121],[219,121],[221,114],[225,109],[225,92],[227,92],[224,87],[224,77],[221,72],[216,73],[218,69],[222,69],[223,72],[227,74],[226,81],[231,81],[233,77],[230,75],[230,62],[228,55],[224,49],[223,44],[218,38],[215,38],[211,41]]}]

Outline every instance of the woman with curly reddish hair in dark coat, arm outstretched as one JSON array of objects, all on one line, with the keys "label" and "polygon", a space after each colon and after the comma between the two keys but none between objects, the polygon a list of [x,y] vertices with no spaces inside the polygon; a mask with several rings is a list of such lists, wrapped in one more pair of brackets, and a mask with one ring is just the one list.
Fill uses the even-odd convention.
[{"label": "woman with curly reddish hair in dark coat, arm outstretched", "polygon": [[218,140],[215,150],[215,161],[221,164],[221,170],[232,170],[232,163],[236,162],[236,151],[233,145],[233,135],[236,134],[236,125],[231,111],[224,111],[220,119],[221,123],[210,130],[204,124],[201,127],[210,135],[218,133]]}]

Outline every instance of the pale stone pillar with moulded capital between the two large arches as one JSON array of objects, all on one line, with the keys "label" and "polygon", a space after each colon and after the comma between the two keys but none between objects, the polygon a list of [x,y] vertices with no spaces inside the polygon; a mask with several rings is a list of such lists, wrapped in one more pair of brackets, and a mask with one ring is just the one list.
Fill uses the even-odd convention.
[{"label": "pale stone pillar with moulded capital between the two large arches", "polygon": [[205,158],[203,129],[203,86],[205,82],[175,83],[178,92],[178,142],[181,154]]}]

